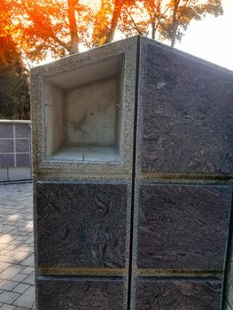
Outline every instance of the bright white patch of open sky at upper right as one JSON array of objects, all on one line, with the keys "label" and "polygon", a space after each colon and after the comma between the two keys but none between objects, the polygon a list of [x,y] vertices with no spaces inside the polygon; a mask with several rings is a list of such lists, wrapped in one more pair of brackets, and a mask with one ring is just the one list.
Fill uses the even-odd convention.
[{"label": "bright white patch of open sky at upper right", "polygon": [[233,0],[222,0],[223,16],[190,24],[175,48],[233,70]]}]

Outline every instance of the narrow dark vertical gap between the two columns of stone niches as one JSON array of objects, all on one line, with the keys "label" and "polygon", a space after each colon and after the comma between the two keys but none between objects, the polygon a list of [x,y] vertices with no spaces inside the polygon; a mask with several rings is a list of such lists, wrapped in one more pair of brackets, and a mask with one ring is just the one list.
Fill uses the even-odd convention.
[{"label": "narrow dark vertical gap between the two columns of stone niches", "polygon": [[137,127],[137,106],[138,106],[138,82],[140,64],[140,35],[136,43],[136,84],[135,84],[135,116],[134,116],[134,142],[133,142],[133,162],[132,162],[132,198],[131,198],[131,220],[130,220],[130,240],[129,240],[129,264],[128,264],[128,310],[131,306],[132,289],[132,264],[133,264],[133,232],[134,232],[134,200],[135,200],[135,178],[136,178],[136,127]]}]

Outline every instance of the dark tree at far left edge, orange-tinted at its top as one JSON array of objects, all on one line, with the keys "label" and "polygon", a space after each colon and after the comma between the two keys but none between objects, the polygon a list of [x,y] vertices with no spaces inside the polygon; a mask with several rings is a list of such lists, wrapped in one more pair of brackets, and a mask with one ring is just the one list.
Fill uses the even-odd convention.
[{"label": "dark tree at far left edge, orange-tinted at its top", "polygon": [[11,7],[0,3],[0,119],[29,120],[27,69],[12,38]]}]

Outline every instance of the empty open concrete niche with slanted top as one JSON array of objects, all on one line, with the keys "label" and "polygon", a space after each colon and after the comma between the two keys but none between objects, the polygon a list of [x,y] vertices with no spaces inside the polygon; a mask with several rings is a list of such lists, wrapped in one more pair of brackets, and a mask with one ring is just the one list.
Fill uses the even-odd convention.
[{"label": "empty open concrete niche with slanted top", "polygon": [[120,161],[123,63],[110,58],[44,79],[46,159]]}]

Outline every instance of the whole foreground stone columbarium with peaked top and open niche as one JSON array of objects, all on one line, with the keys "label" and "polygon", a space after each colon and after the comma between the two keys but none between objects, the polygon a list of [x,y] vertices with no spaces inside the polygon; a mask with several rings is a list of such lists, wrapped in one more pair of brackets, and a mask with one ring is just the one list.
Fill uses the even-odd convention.
[{"label": "whole foreground stone columbarium with peaked top and open niche", "polygon": [[233,74],[136,36],[31,85],[37,309],[230,306]]}]

